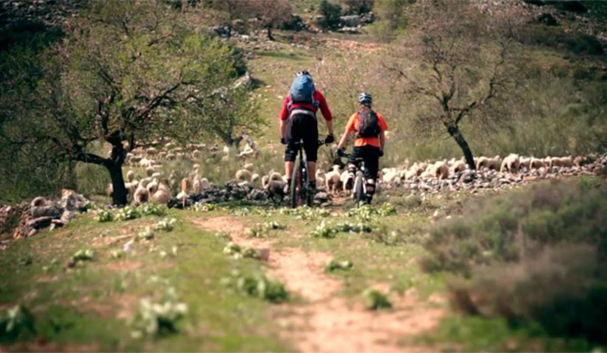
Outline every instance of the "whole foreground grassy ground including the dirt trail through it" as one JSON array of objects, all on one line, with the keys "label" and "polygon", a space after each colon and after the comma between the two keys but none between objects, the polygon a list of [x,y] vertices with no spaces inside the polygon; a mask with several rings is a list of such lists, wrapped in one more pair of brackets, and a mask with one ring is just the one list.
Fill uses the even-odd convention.
[{"label": "whole foreground grassy ground including the dirt trail through it", "polygon": [[[416,201],[382,198],[395,206],[379,205],[353,214],[348,203],[295,212],[226,204],[104,223],[95,220],[93,212],[82,214],[64,229],[14,241],[2,253],[0,310],[21,304],[32,313],[34,331],[18,325],[17,335],[3,336],[0,347],[9,351],[594,348],[584,340],[552,338],[538,327],[517,328],[503,319],[451,311],[445,286],[450,275],[422,272],[419,260],[427,251],[423,244],[428,227],[456,214],[458,203],[469,195]],[[144,239],[150,237],[146,227],[170,218],[176,220],[174,229],[154,230],[151,239]],[[354,230],[318,232],[323,223],[325,228],[328,224],[342,229],[347,224]],[[371,226],[371,232],[358,232],[359,223]],[[225,254],[229,241],[268,249],[269,260]],[[72,267],[70,258],[78,250],[91,250],[92,258]],[[353,266],[329,271],[325,265],[332,259],[351,261]],[[272,297],[270,287],[260,289],[259,285],[273,285],[270,282],[248,291],[254,295],[234,286],[263,275],[285,284],[286,301]],[[387,295],[393,309],[365,310],[368,289]],[[187,312],[168,320],[167,327],[174,332],[160,325],[158,331],[137,337],[135,331],[145,315],[142,299],[169,306],[183,303]],[[166,323],[161,315],[157,320]]]}]

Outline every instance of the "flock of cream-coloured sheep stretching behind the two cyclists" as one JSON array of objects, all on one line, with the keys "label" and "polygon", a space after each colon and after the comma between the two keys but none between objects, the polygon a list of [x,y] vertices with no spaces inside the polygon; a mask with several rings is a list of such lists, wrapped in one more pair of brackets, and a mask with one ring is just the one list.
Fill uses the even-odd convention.
[{"label": "flock of cream-coloured sheep stretching behind the two cyclists", "polygon": [[[191,170],[185,173],[181,180],[178,180],[175,171],[168,176],[163,174],[163,163],[174,160],[190,160],[193,162],[201,160],[203,156],[217,158],[220,161],[229,160],[229,149],[217,146],[207,147],[204,144],[187,144],[185,147],[177,147],[172,143],[164,144],[160,150],[155,147],[144,149],[138,147],[127,153],[126,164],[131,169],[126,172],[125,187],[129,202],[132,204],[141,204],[145,202],[166,204],[172,200],[173,193],[177,192],[175,198],[185,199],[188,194],[195,195],[208,189],[211,186],[208,178],[204,178],[200,173],[200,164],[194,163]],[[242,152],[237,154],[241,169],[237,170],[234,178],[238,183],[248,183],[254,187],[262,187],[268,190],[271,196],[276,194],[284,196],[284,189],[287,183],[287,176],[271,170],[261,175],[256,172],[256,167],[252,160],[257,156],[257,150],[246,146]],[[564,157],[546,157],[535,158],[533,156],[519,156],[510,154],[505,158],[500,156],[475,158],[475,167],[477,170],[495,170],[500,173],[515,174],[518,172],[546,173],[555,167],[580,167],[587,161],[586,157],[564,156]],[[145,173],[143,178],[136,180],[134,169],[142,170]],[[464,158],[450,161],[423,161],[411,164],[408,160],[399,167],[384,168],[379,172],[379,184],[384,188],[398,186],[404,181],[412,180],[446,180],[453,175],[459,175],[469,170],[468,164]],[[348,179],[353,178],[347,169],[342,166],[334,165],[328,172],[324,171],[323,164],[319,163],[316,171],[316,184],[318,187],[325,187],[327,192],[336,195],[337,193],[348,193]],[[112,195],[112,184],[108,184],[107,193]]]}]

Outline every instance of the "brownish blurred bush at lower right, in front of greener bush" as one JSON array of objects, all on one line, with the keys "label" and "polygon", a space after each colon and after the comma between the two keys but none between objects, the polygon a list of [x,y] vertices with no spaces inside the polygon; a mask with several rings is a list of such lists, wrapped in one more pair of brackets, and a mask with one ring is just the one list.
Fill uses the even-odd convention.
[{"label": "brownish blurred bush at lower right, in front of greener bush", "polygon": [[478,269],[471,283],[448,289],[466,314],[537,321],[552,335],[607,342],[607,276],[592,246],[563,244],[520,264]]}]

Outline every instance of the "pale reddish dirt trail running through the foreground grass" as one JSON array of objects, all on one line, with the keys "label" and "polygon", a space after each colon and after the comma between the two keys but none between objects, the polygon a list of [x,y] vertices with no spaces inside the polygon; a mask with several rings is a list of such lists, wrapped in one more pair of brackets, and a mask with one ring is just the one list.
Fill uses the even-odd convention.
[{"label": "pale reddish dirt trail running through the foreground grass", "polygon": [[[246,226],[231,217],[195,219],[209,230],[223,230],[232,240],[245,246],[271,248],[273,241],[245,236]],[[281,336],[300,352],[421,352],[432,350],[415,346],[407,338],[430,331],[443,317],[441,308],[429,308],[414,291],[393,295],[391,311],[371,312],[359,300],[352,302],[339,293],[342,283],[324,272],[331,258],[322,252],[296,248],[270,252],[270,274],[280,278],[288,291],[307,303],[279,306],[274,318],[289,326]],[[387,290],[387,288],[381,288]]]}]

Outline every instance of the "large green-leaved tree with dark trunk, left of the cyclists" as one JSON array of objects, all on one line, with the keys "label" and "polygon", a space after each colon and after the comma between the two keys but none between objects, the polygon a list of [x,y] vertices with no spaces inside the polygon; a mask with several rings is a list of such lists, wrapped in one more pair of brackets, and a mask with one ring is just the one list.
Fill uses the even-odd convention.
[{"label": "large green-leaved tree with dark trunk, left of the cyclists", "polygon": [[[40,68],[33,93],[22,94],[21,83],[32,81],[27,71],[5,80],[2,138],[44,146],[49,158],[106,167],[114,204],[126,204],[126,153],[160,137],[200,135],[189,128],[202,119],[197,112],[220,103],[214,92],[236,78],[231,49],[177,15],[160,0],[92,2],[66,25],[61,44],[21,62]],[[98,141],[112,146],[109,155],[93,152]]]}]

